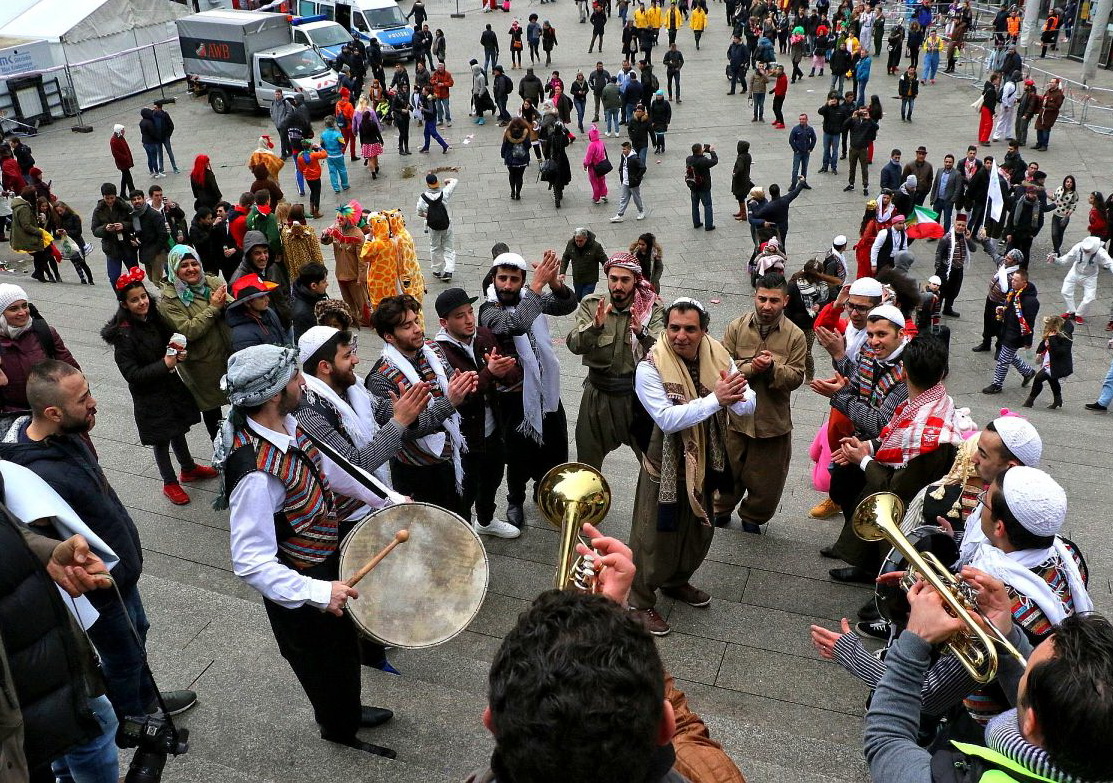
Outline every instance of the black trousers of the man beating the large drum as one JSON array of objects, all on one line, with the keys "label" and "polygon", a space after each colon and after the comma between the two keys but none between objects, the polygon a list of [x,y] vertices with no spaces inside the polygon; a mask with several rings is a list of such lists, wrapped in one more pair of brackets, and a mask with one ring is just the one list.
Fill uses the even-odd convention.
[{"label": "black trousers of the man beating the large drum", "polygon": [[[338,558],[301,573],[317,579],[338,576]],[[263,601],[278,652],[286,658],[305,695],[321,735],[328,740],[355,739],[359,729],[359,644],[348,617],[312,606],[288,609]]]}]

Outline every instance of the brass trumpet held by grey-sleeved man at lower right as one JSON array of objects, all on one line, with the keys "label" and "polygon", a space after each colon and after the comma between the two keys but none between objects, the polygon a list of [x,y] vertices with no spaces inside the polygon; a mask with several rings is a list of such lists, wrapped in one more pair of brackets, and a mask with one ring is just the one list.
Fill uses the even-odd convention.
[{"label": "brass trumpet held by grey-sleeved man at lower right", "polygon": [[[854,512],[850,526],[863,541],[887,541],[908,563],[900,586],[907,591],[922,577],[943,597],[949,613],[966,624],[966,630],[953,636],[944,646],[974,680],[987,683],[997,676],[997,648],[1015,657],[1022,665],[1027,661],[1001,631],[977,608],[976,594],[958,576],[952,574],[930,552],[918,552],[900,532],[904,503],[890,492],[867,496]],[[974,618],[977,615],[988,633]]]}]

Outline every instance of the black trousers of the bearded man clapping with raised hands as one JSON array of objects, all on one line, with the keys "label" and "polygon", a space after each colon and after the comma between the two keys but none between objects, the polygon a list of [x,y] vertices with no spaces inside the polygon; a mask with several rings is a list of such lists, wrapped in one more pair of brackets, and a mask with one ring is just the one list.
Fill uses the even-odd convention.
[{"label": "black trousers of the bearded man clapping with raised hands", "polygon": [[524,416],[520,393],[501,395],[499,413],[505,443],[506,502],[511,505],[521,505],[525,502],[525,485],[530,479],[535,484],[551,467],[568,462],[568,419],[564,416],[564,404],[558,405],[553,413],[545,414],[540,444],[518,432]]}]

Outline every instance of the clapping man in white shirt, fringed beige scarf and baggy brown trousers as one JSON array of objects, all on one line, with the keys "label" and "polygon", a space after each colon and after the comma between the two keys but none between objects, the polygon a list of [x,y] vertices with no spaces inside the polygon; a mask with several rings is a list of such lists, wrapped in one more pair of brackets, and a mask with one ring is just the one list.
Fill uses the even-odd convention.
[{"label": "clapping man in white shirt, fringed beige scarf and baggy brown trousers", "polygon": [[664,336],[634,370],[634,393],[653,419],[634,494],[630,549],[637,574],[630,608],[654,636],[669,633],[657,591],[690,606],[711,595],[691,584],[715,526],[712,496],[732,488],[727,409],[750,416],[757,395],[727,349],[708,335],[711,316],[695,299],[664,311]]}]

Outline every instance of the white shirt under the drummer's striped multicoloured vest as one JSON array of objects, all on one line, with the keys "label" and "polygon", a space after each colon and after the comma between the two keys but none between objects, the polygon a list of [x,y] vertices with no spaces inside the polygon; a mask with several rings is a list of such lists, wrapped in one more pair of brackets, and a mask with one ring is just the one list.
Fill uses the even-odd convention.
[{"label": "white shirt under the drummer's striped multicoloured vest", "polygon": [[[287,416],[285,433],[278,433],[248,418],[247,426],[268,440],[283,454],[294,440],[292,435],[297,419]],[[363,500],[351,517],[364,516],[368,508],[383,505],[378,497],[355,480],[333,460],[321,455],[322,468],[332,489],[341,495]],[[305,604],[317,608],[328,606],[332,583],[303,576],[278,559],[278,539],[275,535],[275,514],[286,502],[286,487],[275,476],[253,470],[244,476],[228,497],[232,526],[232,565],[236,576],[279,606],[297,608]]]}]

